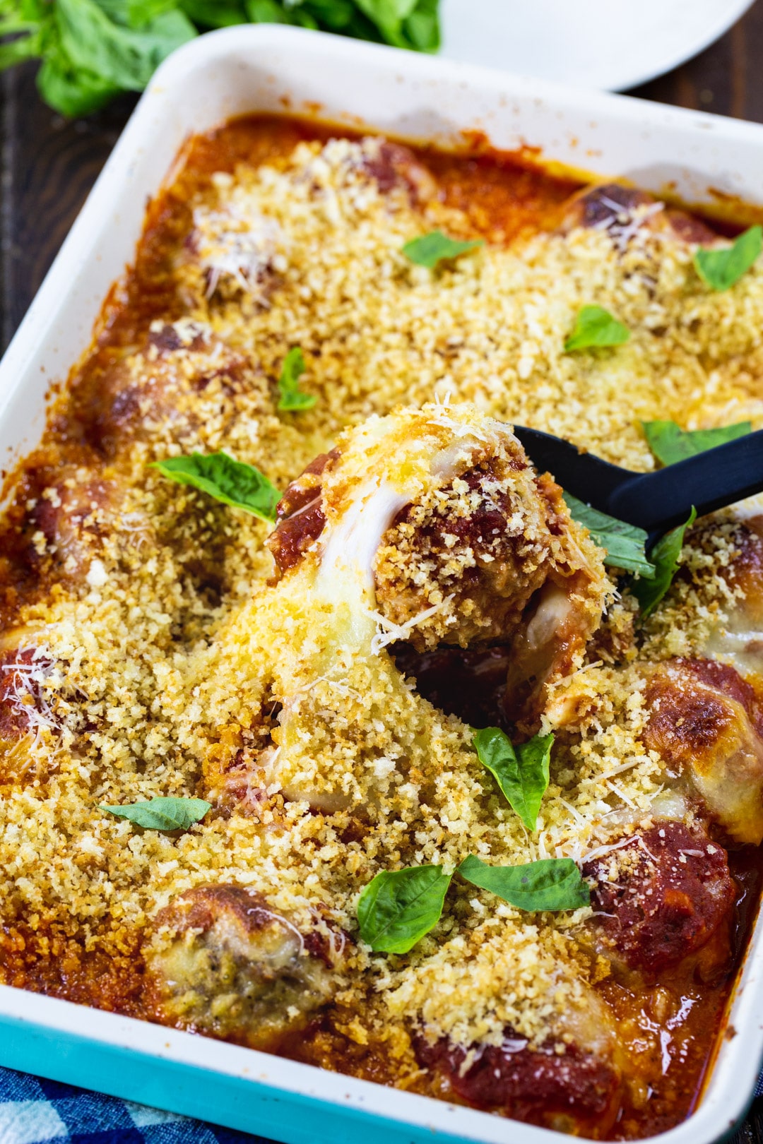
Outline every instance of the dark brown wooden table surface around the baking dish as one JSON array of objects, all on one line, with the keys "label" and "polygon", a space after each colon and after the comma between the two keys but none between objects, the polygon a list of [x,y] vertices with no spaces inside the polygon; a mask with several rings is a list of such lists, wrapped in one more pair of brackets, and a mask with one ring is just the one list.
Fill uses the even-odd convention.
[{"label": "dark brown wooden table surface around the baking dish", "polygon": [[[666,0],[667,3],[670,0]],[[629,94],[763,122],[763,0],[701,55]],[[86,120],[46,108],[34,66],[2,78],[0,122],[0,349],[42,281],[135,105],[124,96]],[[763,1144],[763,1098],[733,1144]]]}]

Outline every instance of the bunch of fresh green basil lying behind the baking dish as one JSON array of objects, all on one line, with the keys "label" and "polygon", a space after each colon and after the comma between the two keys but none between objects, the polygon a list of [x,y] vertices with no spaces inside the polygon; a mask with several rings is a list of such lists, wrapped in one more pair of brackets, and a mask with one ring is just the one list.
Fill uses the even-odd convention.
[{"label": "bunch of fresh green basil lying behind the baking dish", "polygon": [[[41,59],[42,98],[86,116],[140,92],[170,51],[232,24],[295,24],[437,51],[438,0],[0,0],[0,70]],[[8,39],[11,37],[11,39]]]}]

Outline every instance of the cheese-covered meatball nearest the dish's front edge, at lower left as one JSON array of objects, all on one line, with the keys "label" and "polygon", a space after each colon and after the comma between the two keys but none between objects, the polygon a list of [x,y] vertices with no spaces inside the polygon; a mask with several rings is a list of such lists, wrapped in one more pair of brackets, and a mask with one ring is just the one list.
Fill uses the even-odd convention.
[{"label": "cheese-covered meatball nearest the dish's front edge, at lower left", "polygon": [[273,1049],[331,999],[343,948],[342,934],[304,934],[251,890],[199,887],[157,915],[151,1004],[164,1024]]}]

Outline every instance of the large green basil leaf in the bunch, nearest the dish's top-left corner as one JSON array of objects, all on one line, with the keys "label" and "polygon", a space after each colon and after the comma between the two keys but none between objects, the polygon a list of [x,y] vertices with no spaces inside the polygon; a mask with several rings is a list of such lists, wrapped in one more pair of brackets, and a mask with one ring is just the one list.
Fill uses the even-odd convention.
[{"label": "large green basil leaf in the bunch, nearest the dish's top-left corner", "polygon": [[197,34],[178,10],[161,13],[141,31],[113,23],[95,0],[56,0],[55,13],[74,67],[130,92],[143,90],[161,61]]}]

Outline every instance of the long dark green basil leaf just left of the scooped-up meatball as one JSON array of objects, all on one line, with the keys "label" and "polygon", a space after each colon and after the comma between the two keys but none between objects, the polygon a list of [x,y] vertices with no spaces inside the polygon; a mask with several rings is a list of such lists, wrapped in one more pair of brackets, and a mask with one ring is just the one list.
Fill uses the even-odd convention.
[{"label": "long dark green basil leaf just left of the scooped-up meatball", "polygon": [[162,477],[181,485],[199,488],[223,505],[243,508],[263,521],[276,519],[276,505],[280,493],[260,469],[244,461],[236,461],[228,453],[192,453],[190,456],[167,456],[153,461]]}]

